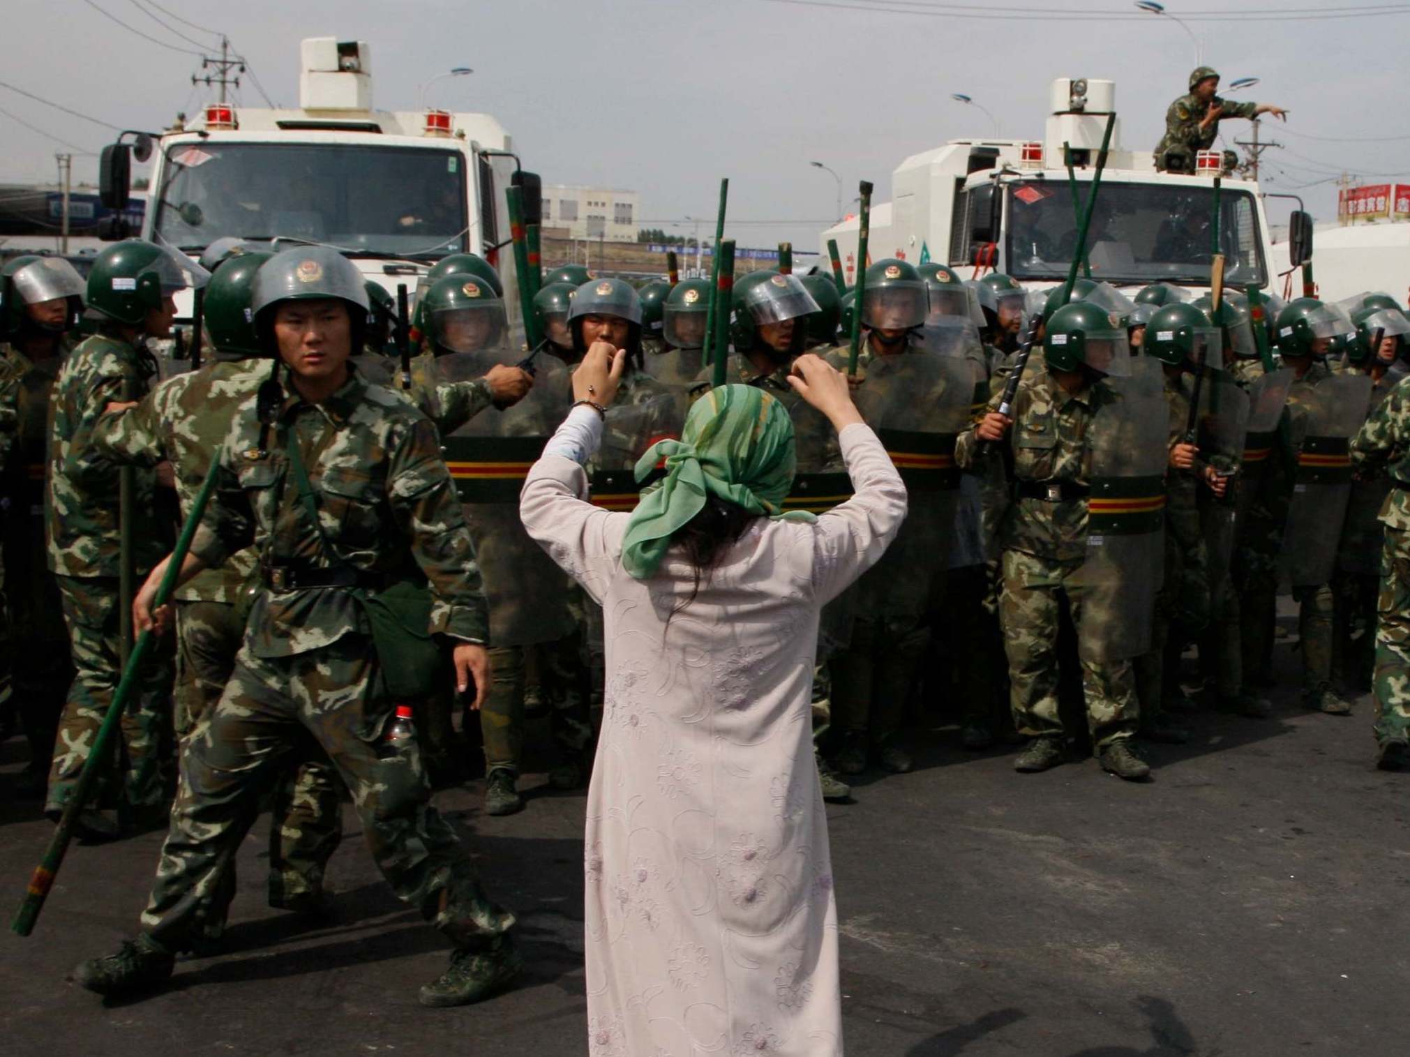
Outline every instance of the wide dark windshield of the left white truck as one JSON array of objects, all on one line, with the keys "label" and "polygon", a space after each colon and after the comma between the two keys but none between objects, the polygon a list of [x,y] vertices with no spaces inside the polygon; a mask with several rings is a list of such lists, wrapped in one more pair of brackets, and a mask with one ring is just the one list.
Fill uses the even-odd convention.
[{"label": "wide dark windshield of the left white truck", "polygon": [[440,256],[465,248],[468,227],[462,155],[416,147],[176,144],[152,209],[158,237],[182,249],[283,235]]}]

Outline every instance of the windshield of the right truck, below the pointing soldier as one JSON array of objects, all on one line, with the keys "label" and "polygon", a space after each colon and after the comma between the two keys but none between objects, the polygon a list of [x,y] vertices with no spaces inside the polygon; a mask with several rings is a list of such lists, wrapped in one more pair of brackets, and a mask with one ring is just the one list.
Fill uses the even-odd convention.
[{"label": "windshield of the right truck, below the pointing soldier", "polygon": [[[1086,200],[1090,183],[1079,183]],[[1173,183],[1103,183],[1087,234],[1094,279],[1208,283],[1214,194]],[[1066,182],[1022,180],[1008,189],[1007,269],[1015,279],[1067,275],[1077,245],[1077,218]],[[1224,280],[1266,282],[1258,211],[1248,192],[1220,196]]]}]

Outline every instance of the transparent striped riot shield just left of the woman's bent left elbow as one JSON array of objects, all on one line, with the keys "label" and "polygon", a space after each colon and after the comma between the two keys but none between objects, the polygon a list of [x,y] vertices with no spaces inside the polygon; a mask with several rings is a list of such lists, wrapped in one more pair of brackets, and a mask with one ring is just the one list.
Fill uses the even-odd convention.
[{"label": "transparent striped riot shield just left of the woman's bent left elbow", "polygon": [[[482,378],[491,366],[513,359],[506,350],[439,357],[437,389]],[[446,393],[440,397],[448,400]],[[519,403],[489,407],[454,431],[441,450],[455,481],[489,602],[489,637],[495,645],[551,643],[570,634],[568,575],[536,544],[519,520],[519,492],[529,468],[572,404],[568,368],[553,357],[534,361],[534,383]]]}]

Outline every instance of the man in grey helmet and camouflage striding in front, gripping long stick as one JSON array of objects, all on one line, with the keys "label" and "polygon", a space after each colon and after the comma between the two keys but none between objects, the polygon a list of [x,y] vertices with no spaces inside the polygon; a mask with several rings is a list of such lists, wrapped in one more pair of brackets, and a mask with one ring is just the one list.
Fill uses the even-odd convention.
[{"label": "man in grey helmet and camouflage striding in front, gripping long stick", "polygon": [[[262,586],[234,675],[183,746],[142,933],[79,965],[75,978],[104,995],[166,979],[175,951],[192,940],[199,894],[219,884],[235,853],[243,802],[266,767],[312,736],[351,788],[384,877],[455,947],[420,1001],[475,1002],[522,967],[509,936],[515,919],[486,898],[464,846],[430,806],[417,741],[392,722],[400,723],[398,702],[379,689],[385,658],[350,591],[376,595],[420,578],[424,631],[454,643],[458,689],[474,681],[478,703],[489,668],[474,545],[434,426],[348,369],[367,313],[357,268],[323,247],[286,251],[261,266],[252,307],[262,344],[283,364],[231,424],[180,572],[223,565],[254,544]],[[138,593],[144,622],[161,569]],[[154,616],[165,623],[169,614]]]}]

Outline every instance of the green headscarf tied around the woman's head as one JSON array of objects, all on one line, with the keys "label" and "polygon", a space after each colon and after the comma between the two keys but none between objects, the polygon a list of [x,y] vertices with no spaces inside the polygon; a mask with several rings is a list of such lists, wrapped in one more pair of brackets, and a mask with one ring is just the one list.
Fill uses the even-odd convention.
[{"label": "green headscarf tied around the woman's head", "polygon": [[784,514],[792,486],[794,434],[787,409],[750,385],[711,389],[691,406],[680,440],[657,441],[636,464],[644,481],[666,459],[666,479],[642,493],[623,538],[622,565],[636,579],[650,578],[671,536],[713,495],[763,517],[812,521]]}]

